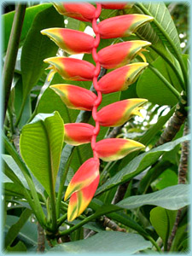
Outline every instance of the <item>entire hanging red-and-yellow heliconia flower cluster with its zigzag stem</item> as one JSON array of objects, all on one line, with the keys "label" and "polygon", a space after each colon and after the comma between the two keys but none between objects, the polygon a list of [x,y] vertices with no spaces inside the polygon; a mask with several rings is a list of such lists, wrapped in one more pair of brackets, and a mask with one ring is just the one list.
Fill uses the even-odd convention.
[{"label": "entire hanging red-and-yellow heliconia flower cluster with its zigzag stem", "polygon": [[[65,125],[65,142],[78,146],[91,143],[93,157],[86,160],[73,176],[67,187],[65,200],[70,198],[67,218],[73,221],[89,205],[99,183],[99,166],[104,161],[119,160],[137,149],[144,148],[143,144],[123,138],[108,138],[96,142],[100,125],[114,127],[123,125],[133,114],[140,114],[139,109],[146,99],[127,99],[114,102],[97,111],[102,102],[102,94],[126,90],[135,82],[138,75],[148,66],[142,51],[150,45],[146,41],[130,41],[110,45],[99,52],[96,51],[100,38],[120,38],[130,36],[139,26],[153,20],[147,15],[121,15],[97,23],[103,9],[130,8],[127,3],[97,3],[96,8],[90,3],[54,3],[55,9],[61,15],[67,15],[77,20],[92,23],[96,37],[67,28],[49,28],[42,31],[55,44],[67,53],[92,54],[96,66],[88,61],[68,57],[51,57],[44,60],[50,64],[52,73],[60,73],[63,79],[77,81],[92,81],[96,93],[72,84],[54,84],[51,89],[61,96],[67,108],[75,108],[92,112],[96,126],[84,123]],[[136,56],[141,55],[144,62],[129,64]],[[101,67],[113,69],[98,80]]]}]

